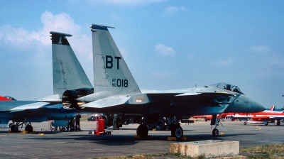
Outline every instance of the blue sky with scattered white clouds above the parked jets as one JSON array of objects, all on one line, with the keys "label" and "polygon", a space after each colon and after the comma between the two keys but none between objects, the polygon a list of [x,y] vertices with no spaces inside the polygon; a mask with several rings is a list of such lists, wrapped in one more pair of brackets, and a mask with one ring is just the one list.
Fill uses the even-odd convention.
[{"label": "blue sky with scattered white clouds above the parked jets", "polygon": [[141,89],[230,82],[284,106],[284,1],[2,1],[0,95],[53,94],[50,31],[68,38],[93,83],[92,23],[111,35]]}]

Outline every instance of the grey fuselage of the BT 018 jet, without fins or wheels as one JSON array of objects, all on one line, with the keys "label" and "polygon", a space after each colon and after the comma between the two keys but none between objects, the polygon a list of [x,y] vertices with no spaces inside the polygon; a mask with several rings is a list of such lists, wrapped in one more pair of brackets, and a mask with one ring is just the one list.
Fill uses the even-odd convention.
[{"label": "grey fuselage of the BT 018 jet, without fins or wheels", "polygon": [[126,104],[106,107],[86,107],[84,110],[102,113],[157,114],[160,116],[193,116],[222,113],[253,113],[265,108],[244,93],[214,86],[167,91],[143,91],[129,94]]}]

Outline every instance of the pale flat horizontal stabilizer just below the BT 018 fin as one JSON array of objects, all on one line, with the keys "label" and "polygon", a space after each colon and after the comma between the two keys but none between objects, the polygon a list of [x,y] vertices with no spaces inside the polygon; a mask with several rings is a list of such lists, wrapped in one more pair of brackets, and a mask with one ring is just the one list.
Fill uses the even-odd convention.
[{"label": "pale flat horizontal stabilizer just below the BT 018 fin", "polygon": [[116,106],[120,104],[126,104],[131,97],[127,96],[116,96],[116,97],[107,97],[104,99],[99,99],[94,102],[90,102],[88,104],[84,104],[81,107],[89,107],[89,108],[104,108],[108,106]]}]

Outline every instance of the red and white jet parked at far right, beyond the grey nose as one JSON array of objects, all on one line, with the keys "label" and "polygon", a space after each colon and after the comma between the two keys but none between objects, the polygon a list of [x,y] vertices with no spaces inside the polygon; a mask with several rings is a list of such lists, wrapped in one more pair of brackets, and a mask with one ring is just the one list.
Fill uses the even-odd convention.
[{"label": "red and white jet parked at far right, beyond the grey nose", "polygon": [[[227,117],[231,118],[232,120],[235,119],[246,119],[244,122],[244,125],[246,123],[251,124],[265,124],[268,126],[268,121],[271,121],[271,123],[274,123],[275,120],[277,121],[277,125],[280,126],[280,120],[284,119],[284,111],[275,111],[275,106],[271,106],[271,109],[261,111],[258,113],[239,113],[239,114],[229,114]],[[247,121],[247,119],[253,119],[253,121]]]}]

